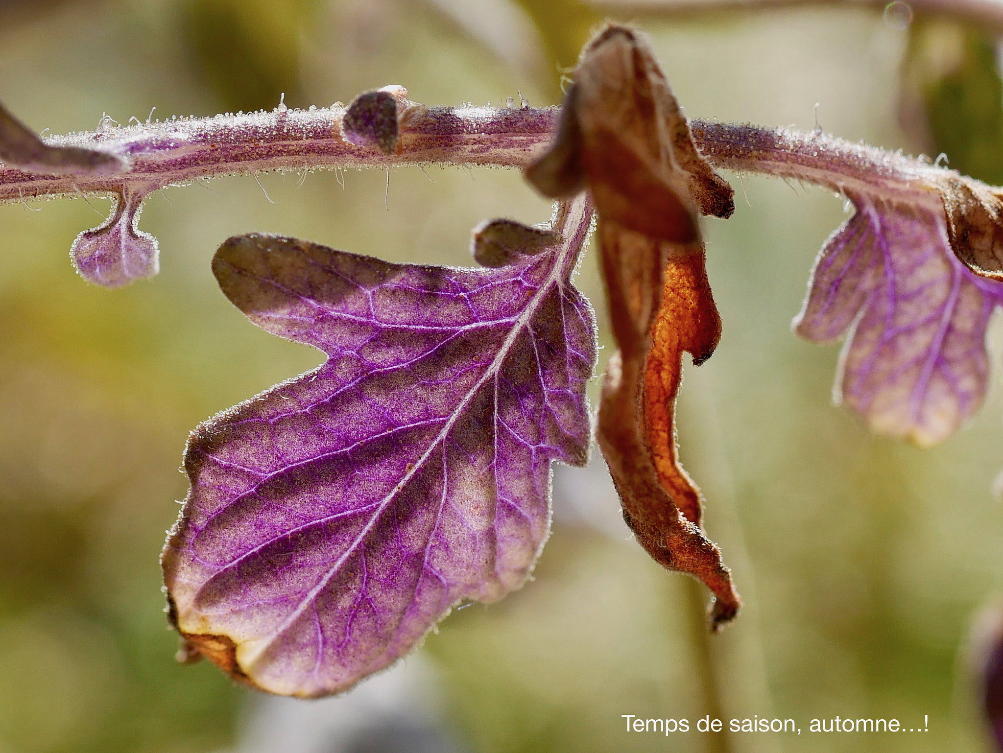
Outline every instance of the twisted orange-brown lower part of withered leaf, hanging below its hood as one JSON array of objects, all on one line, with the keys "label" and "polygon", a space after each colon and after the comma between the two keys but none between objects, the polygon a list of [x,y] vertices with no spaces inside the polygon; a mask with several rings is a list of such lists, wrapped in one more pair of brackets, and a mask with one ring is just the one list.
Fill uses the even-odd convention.
[{"label": "twisted orange-brown lower part of withered leaf, hanging below its hood", "polygon": [[703,250],[653,244],[616,226],[599,232],[620,345],[603,383],[599,446],[638,542],[666,569],[707,585],[716,627],[734,618],[741,602],[700,528],[700,491],[679,464],[674,425],[683,352],[694,363],[706,360],[720,336]]}]

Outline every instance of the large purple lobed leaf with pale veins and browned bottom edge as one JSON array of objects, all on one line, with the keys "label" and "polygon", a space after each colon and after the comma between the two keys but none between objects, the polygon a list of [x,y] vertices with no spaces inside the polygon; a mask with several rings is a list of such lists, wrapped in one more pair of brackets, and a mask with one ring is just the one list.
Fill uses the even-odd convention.
[{"label": "large purple lobed leaf with pale veins and browned bottom edge", "polygon": [[590,435],[595,324],[569,280],[592,210],[562,207],[560,246],[493,270],[221,247],[230,300],[328,359],[192,434],[163,552],[189,651],[273,693],[337,693],[526,582],[551,460],[584,464]]}]

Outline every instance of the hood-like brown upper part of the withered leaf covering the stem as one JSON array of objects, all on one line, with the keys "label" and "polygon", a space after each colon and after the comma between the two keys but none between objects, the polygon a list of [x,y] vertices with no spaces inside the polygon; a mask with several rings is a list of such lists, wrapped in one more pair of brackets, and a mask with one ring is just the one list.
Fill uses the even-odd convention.
[{"label": "hood-like brown upper part of the withered leaf covering the stem", "polygon": [[734,211],[734,192],[697,151],[647,37],[620,24],[585,46],[555,141],[526,175],[555,198],[588,187],[603,221],[670,243],[698,240],[697,212]]}]

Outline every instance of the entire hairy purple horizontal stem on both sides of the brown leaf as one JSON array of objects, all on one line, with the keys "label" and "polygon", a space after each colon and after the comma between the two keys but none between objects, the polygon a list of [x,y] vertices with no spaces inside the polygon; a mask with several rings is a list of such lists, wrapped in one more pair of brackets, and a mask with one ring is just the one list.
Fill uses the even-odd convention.
[{"label": "entire hairy purple horizontal stem on both sides of the brown leaf", "polygon": [[[47,138],[53,145],[108,151],[128,168],[117,176],[47,175],[0,167],[0,203],[81,195],[145,195],[166,185],[263,170],[475,164],[523,167],[547,147],[560,109],[420,107],[401,122],[394,153],[342,135],[345,108],[178,118]],[[834,191],[940,207],[933,178],[949,172],[926,159],[785,128],[690,121],[700,151],[717,167],[796,178]]]}]

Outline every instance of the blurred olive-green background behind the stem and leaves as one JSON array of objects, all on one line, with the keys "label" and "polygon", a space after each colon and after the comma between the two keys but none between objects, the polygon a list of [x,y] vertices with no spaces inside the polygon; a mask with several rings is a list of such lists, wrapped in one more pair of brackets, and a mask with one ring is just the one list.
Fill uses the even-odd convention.
[{"label": "blurred olive-green background behind the stem and leaves", "polygon": [[[7,0],[0,98],[52,132],[154,106],[273,107],[282,92],[327,105],[389,83],[430,104],[519,91],[551,104],[558,66],[601,18],[576,0]],[[817,113],[845,138],[1003,176],[995,46],[977,28],[903,29],[859,7],[640,23],[691,116],[810,129]],[[386,207],[386,176],[366,171],[344,187],[330,172],[263,174],[268,198],[253,177],[154,194],[140,227],[159,239],[162,271],[115,292],[84,284],[67,258],[106,201],[0,207],[0,753],[242,749],[264,702],[206,663],[175,663],[157,553],[186,493],[187,432],[319,355],[248,323],[209,262],[229,236],[264,231],[468,264],[478,221],[549,216],[517,172],[425,172],[393,170]],[[575,513],[584,488],[605,488],[588,480],[601,467],[560,474],[568,498],[535,581],[454,614],[421,650],[445,724],[471,751],[984,749],[965,656],[974,615],[1003,585],[998,369],[983,411],[942,447],[870,435],[830,406],[838,348],[789,331],[842,200],[727,177],[735,216],[706,224],[724,335],[687,371],[679,436],[747,608],[708,640],[704,595],[628,540],[611,494],[596,513],[607,523]],[[594,255],[579,285],[605,360]],[[997,322],[995,365],[1001,341]],[[621,718],[707,713],[793,718],[803,734],[666,739]],[[835,715],[929,715],[930,731],[807,734]]]}]

